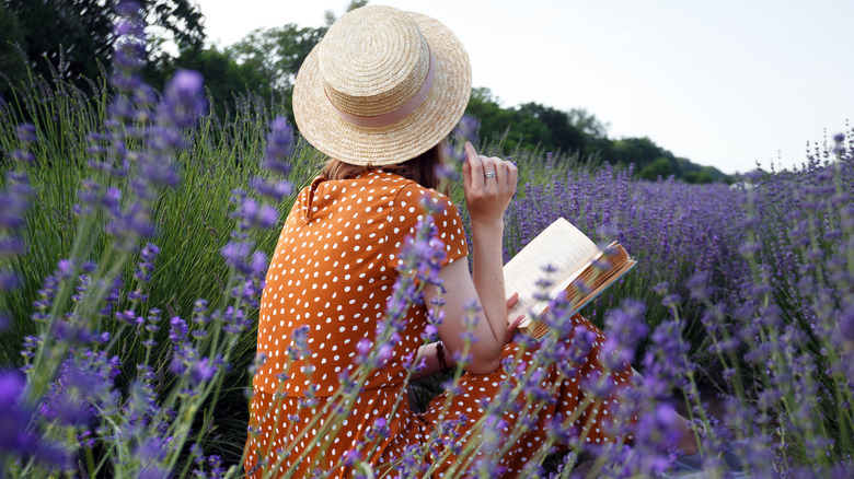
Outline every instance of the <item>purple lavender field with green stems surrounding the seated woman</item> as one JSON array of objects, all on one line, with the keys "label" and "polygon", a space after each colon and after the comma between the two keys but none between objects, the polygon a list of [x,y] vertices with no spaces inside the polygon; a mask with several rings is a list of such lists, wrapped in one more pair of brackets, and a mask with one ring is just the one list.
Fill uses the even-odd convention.
[{"label": "purple lavender field with green stems surrounding the seated woman", "polygon": [[[140,31],[128,22],[119,33],[120,69],[108,81],[81,91],[36,79],[0,103],[0,470],[241,477],[267,258],[322,159],[281,106],[245,97],[228,116],[209,115],[189,71],[158,93],[139,77]],[[815,144],[795,172],[757,170],[734,186],[515,157],[522,179],[506,257],[564,217],[638,261],[582,311],[605,329],[610,361],[644,376],[622,411],[641,418],[635,441],[591,447],[556,422],[531,477],[581,474],[579,457],[589,477],[667,474],[670,406],[697,427],[708,477],[725,448],[750,477],[854,475],[852,133]],[[429,231],[425,222],[408,256],[414,274],[429,276]],[[415,276],[401,278],[400,291],[417,292]],[[555,331],[566,331],[565,306],[546,318]],[[378,325],[378,338],[392,327]],[[577,352],[538,360],[572,375]],[[378,354],[366,351],[343,383],[358,385]],[[459,374],[413,387],[452,388]],[[513,401],[542,401],[535,376],[521,383],[494,401],[493,419]],[[585,387],[597,400],[613,385]],[[343,389],[345,402],[358,393]],[[493,476],[512,443],[487,434],[489,424],[483,441],[461,446],[475,477]],[[616,421],[614,433],[628,427]],[[429,447],[385,470],[350,466],[420,477]],[[354,449],[369,456],[369,445]]]}]

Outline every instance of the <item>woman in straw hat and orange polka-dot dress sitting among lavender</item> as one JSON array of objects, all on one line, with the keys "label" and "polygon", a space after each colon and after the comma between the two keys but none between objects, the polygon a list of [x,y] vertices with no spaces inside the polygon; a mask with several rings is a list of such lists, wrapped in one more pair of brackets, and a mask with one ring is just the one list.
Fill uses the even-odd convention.
[{"label": "woman in straw hat and orange polka-dot dress sitting among lavender", "polygon": [[[349,477],[361,470],[359,464],[380,475],[399,466],[439,428],[445,428],[446,439],[466,437],[489,407],[488,399],[501,385],[516,381],[499,365],[520,350],[511,341],[519,319],[508,322],[501,271],[503,217],[516,191],[517,170],[465,144],[471,274],[462,220],[451,201],[435,190],[443,139],[462,116],[470,92],[469,59],[454,35],[432,19],[389,7],[365,7],[344,15],[302,65],[293,90],[297,124],[305,139],[332,160],[300,192],[267,273],[258,324],[258,353],[266,362],[254,378],[252,433],[246,442],[251,476],[290,468],[296,469],[293,477],[318,470]],[[428,324],[424,304],[439,295],[438,288],[427,285],[424,302],[408,308],[382,367],[346,405],[346,419],[328,425],[331,412],[330,408],[323,412],[324,407],[339,392],[342,374],[351,371],[363,353],[360,344],[374,339],[399,274],[401,248],[424,214],[419,200],[425,195],[443,206],[434,214],[437,237],[446,248],[439,270],[446,290],[445,319],[438,326],[441,341],[423,344]],[[472,301],[481,320],[472,331],[476,341],[458,394],[447,407],[448,393],[435,398],[425,412],[413,412],[405,400],[406,367],[413,355],[425,362],[422,375],[453,365],[454,353],[464,348],[461,334]],[[580,316],[574,320],[599,338],[580,369],[589,374],[599,369],[595,359],[602,336]],[[301,348],[308,351],[296,359],[289,354]],[[522,354],[522,364],[531,354],[530,350]],[[613,373],[613,379],[624,384],[631,375],[626,365]],[[553,397],[536,405],[535,416],[511,409],[501,417],[504,423],[495,424],[500,436],[515,421],[530,421],[524,435],[513,439],[513,447],[500,458],[507,476],[520,474],[558,414],[578,412],[577,424],[591,424],[586,441],[609,440],[597,420],[608,414],[613,398],[610,406],[605,400],[601,407],[579,409],[584,397],[575,379],[562,376],[556,367],[543,372],[541,379]],[[452,432],[449,423],[454,424]],[[464,458],[453,441],[434,442],[438,445],[418,460],[441,477]]]}]

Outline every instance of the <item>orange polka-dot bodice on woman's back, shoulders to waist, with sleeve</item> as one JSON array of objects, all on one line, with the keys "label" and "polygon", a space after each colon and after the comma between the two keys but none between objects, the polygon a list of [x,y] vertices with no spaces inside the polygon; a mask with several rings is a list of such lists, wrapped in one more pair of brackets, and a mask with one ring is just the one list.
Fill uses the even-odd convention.
[{"label": "orange polka-dot bodice on woman's back, shoulders to waist, with sleeve", "polygon": [[[274,394],[277,377],[289,381],[281,392],[330,396],[358,357],[358,342],[372,340],[397,272],[397,254],[422,219],[424,195],[445,203],[435,217],[446,244],[446,262],[465,257],[465,237],[450,200],[413,180],[382,171],[357,178],[318,177],[297,199],[270,261],[261,304],[258,353],[266,362],[255,376],[255,388]],[[384,367],[367,387],[403,382],[404,358],[424,343],[423,305],[407,312],[407,327]],[[295,344],[295,330],[297,344]],[[304,338],[304,339],[303,339]],[[288,369],[288,349],[304,341],[307,351]],[[311,371],[311,375],[305,374]]]}]

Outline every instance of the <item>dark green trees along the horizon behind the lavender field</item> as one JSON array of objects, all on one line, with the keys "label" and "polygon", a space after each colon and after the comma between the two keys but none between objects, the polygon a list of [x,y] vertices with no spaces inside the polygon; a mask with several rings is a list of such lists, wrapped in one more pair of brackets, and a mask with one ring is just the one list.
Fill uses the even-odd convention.
[{"label": "dark green trees along the horizon behind the lavender field", "polygon": [[[122,0],[3,0],[0,3],[0,95],[27,83],[30,74],[85,84],[112,69],[115,9]],[[350,1],[346,11],[367,0]],[[205,77],[223,115],[247,95],[284,105],[290,112],[293,79],[303,59],[323,37],[325,25],[288,23],[258,28],[227,47],[205,45],[204,14],[191,0],[137,0],[150,25],[146,81],[161,85],[177,68]],[[177,47],[170,54],[168,44]],[[506,149],[579,153],[615,165],[635,165],[641,178],[676,176],[686,183],[729,182],[713,166],[678,157],[648,138],[608,137],[608,124],[584,108],[558,110],[539,103],[505,107],[486,87],[475,87],[466,113],[480,120],[478,136]],[[291,118],[292,119],[292,118]]]}]

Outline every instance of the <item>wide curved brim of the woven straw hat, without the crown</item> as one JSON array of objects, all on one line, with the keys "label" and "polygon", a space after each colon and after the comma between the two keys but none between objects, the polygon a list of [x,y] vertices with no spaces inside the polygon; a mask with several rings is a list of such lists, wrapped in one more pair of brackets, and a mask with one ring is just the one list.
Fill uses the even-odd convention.
[{"label": "wide curved brim of the woven straw hat, without the crown", "polygon": [[314,148],[344,163],[384,166],[411,160],[446,138],[457,126],[472,92],[469,56],[440,22],[414,12],[436,61],[434,84],[424,103],[403,119],[383,127],[359,127],[335,112],[324,90],[318,44],[305,57],[293,84],[293,116]]}]

